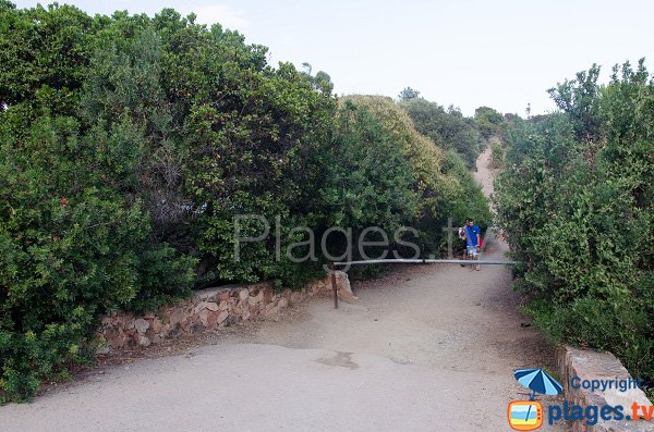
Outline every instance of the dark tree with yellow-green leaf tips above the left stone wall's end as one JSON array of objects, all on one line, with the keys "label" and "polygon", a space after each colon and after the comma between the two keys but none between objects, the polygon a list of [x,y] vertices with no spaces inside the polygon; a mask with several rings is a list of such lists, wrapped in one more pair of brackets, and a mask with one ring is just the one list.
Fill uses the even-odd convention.
[{"label": "dark tree with yellow-green leaf tips above the left stone wall's end", "polygon": [[[335,102],[315,91],[293,66],[279,70],[223,71],[225,99],[197,101],[184,129],[192,137],[185,184],[196,208],[194,243],[221,281],[257,281],[275,272],[271,245],[244,245],[232,259],[233,217],[276,215],[301,222],[322,172],[319,153],[329,146]],[[259,231],[261,233],[261,231]],[[286,234],[286,233],[282,233]]]}]

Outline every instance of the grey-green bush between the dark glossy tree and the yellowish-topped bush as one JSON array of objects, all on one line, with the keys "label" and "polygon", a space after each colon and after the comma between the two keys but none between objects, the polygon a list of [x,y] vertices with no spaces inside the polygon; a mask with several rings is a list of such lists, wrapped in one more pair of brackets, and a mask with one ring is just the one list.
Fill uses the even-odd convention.
[{"label": "grey-green bush between the dark glossy tree and the yellowish-topped bush", "polygon": [[320,200],[327,226],[379,226],[387,232],[411,223],[417,212],[405,148],[365,106],[347,99],[338,111],[334,152]]}]

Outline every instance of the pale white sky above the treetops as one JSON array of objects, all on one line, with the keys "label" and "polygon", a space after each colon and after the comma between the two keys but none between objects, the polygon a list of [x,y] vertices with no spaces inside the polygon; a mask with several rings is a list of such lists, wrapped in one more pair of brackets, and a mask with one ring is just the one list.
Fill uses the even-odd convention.
[{"label": "pale white sky above the treetops", "polygon": [[[37,1],[14,0],[21,7]],[[41,1],[41,3],[47,3]],[[654,1],[649,0],[61,0],[94,13],[195,12],[201,23],[239,29],[291,61],[325,71],[340,94],[426,99],[524,114],[554,108],[547,88],[592,63],[607,79],[615,63],[641,57],[654,71]]]}]

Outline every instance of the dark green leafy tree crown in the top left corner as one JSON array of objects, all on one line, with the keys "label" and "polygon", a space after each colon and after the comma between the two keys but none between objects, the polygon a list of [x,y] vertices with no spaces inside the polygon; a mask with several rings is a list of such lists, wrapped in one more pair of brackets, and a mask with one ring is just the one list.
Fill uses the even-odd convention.
[{"label": "dark green leafy tree crown in the top left corner", "polygon": [[0,3],[0,106],[71,113],[98,23],[75,7]]}]

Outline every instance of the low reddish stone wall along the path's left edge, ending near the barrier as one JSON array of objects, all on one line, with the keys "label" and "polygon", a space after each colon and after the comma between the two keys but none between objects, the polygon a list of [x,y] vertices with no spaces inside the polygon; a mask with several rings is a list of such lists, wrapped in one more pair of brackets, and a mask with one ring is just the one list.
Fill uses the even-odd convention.
[{"label": "low reddish stone wall along the path's left edge, ending near the barrier", "polygon": [[[355,299],[348,274],[336,272],[339,297]],[[158,344],[165,338],[214,331],[231,324],[280,313],[318,293],[331,292],[330,276],[300,291],[275,292],[269,283],[228,285],[196,292],[193,297],[141,317],[116,312],[102,318],[98,329],[100,350]]]}]

